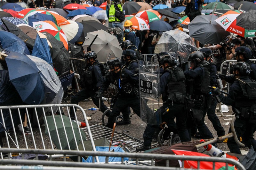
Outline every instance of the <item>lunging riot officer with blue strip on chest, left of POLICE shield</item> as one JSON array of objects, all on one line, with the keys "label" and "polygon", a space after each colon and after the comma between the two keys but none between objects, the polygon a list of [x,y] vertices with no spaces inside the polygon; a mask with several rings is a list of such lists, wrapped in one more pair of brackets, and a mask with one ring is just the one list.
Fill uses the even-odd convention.
[{"label": "lunging riot officer with blue strip on chest, left of POLICE shield", "polygon": [[[126,66],[122,67],[122,62],[119,58],[109,60],[108,66],[110,73],[103,80],[95,97],[101,98],[102,93],[107,90],[110,83],[116,85],[118,96],[106,125],[106,127],[112,128],[116,117],[127,107],[132,107],[132,110],[140,116],[140,100],[138,96],[139,77],[126,69]],[[130,121],[130,119],[126,120],[126,116],[124,115],[124,122],[125,121]]]}]

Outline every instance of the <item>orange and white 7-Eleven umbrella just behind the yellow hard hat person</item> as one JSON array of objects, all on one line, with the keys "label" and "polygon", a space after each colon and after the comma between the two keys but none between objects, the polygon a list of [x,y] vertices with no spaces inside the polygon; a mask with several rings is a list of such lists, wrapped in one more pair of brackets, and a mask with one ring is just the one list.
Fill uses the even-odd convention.
[{"label": "orange and white 7-Eleven umbrella just behind the yellow hard hat person", "polygon": [[133,15],[126,15],[125,18],[132,21],[132,28],[136,30],[149,30],[147,21],[143,18],[136,17]]}]

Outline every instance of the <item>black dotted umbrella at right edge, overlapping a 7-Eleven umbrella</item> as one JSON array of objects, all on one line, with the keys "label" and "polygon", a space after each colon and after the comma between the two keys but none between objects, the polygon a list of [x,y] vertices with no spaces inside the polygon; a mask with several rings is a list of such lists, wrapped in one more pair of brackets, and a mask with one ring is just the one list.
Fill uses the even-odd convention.
[{"label": "black dotted umbrella at right edge, overlapping a 7-Eleven umbrella", "polygon": [[256,30],[255,18],[256,18],[256,10],[250,10],[250,11],[241,13],[240,15],[238,15],[238,17],[236,17],[236,25],[241,26],[242,28],[247,29],[248,31]]}]

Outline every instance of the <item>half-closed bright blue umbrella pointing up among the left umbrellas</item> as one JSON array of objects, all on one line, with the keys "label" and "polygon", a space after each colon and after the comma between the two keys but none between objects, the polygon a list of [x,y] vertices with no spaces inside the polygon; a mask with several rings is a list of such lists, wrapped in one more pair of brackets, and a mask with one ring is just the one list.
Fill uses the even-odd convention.
[{"label": "half-closed bright blue umbrella pointing up among the left umbrellas", "polygon": [[36,35],[36,42],[31,55],[42,58],[48,64],[52,64],[52,56],[47,39],[40,38],[39,34]]}]

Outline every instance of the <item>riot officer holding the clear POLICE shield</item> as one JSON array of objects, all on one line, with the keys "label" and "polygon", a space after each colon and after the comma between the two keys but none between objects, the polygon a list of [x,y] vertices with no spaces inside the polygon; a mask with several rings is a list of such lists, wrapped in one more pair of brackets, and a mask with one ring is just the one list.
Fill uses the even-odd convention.
[{"label": "riot officer holding the clear POLICE shield", "polygon": [[[185,75],[179,67],[175,67],[177,64],[175,56],[165,55],[161,62],[163,62],[164,73],[160,77],[160,93],[164,103],[156,112],[162,114],[162,122],[167,123],[170,118],[172,120],[172,114],[174,114],[181,142],[190,141],[186,126],[188,114],[184,110],[186,95]],[[169,109],[168,112],[166,111],[167,109]],[[136,148],[137,152],[151,148],[152,138],[157,127],[157,125],[147,124],[143,134],[144,143]]]}]

